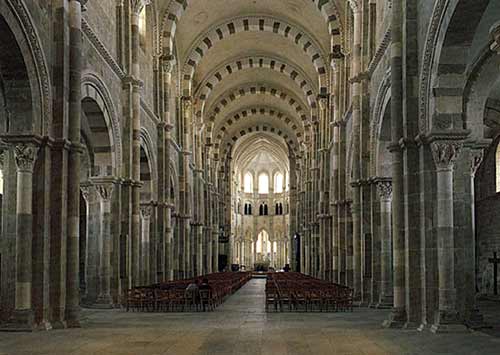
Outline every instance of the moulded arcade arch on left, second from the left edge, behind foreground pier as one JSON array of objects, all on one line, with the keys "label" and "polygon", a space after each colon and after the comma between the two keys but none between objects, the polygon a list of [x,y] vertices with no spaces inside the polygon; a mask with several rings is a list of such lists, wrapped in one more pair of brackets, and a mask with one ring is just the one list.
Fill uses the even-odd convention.
[{"label": "moulded arcade arch on left, second from the left edge, behind foreground pier", "polygon": [[[112,166],[116,169],[122,161],[120,122],[109,90],[94,73],[84,73],[82,75],[82,102],[85,99],[92,99],[99,106],[104,123],[108,131],[111,131],[109,135],[109,148],[111,148]],[[83,109],[82,112],[84,112]]]}]

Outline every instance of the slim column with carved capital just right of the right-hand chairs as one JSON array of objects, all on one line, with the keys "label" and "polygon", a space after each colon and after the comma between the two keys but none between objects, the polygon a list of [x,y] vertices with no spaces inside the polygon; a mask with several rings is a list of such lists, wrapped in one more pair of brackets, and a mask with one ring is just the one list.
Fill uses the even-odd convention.
[{"label": "slim column with carved capital just right of the right-hand chairs", "polygon": [[376,180],[380,198],[380,297],[377,308],[393,306],[392,286],[392,230],[391,199],[392,181]]}]

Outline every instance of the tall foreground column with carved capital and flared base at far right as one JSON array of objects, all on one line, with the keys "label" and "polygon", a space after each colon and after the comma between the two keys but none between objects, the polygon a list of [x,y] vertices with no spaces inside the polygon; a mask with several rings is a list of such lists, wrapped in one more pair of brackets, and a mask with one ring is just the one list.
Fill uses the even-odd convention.
[{"label": "tall foreground column with carved capital and flared base at far right", "polygon": [[459,322],[455,287],[455,244],[453,221],[453,166],[462,143],[457,140],[431,140],[437,177],[437,241],[439,310],[431,328],[434,333],[465,331]]}]

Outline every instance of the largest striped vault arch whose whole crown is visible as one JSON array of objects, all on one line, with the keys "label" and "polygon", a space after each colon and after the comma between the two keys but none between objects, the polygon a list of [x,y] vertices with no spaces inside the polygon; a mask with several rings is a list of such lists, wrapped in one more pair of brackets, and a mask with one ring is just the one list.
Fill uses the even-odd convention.
[{"label": "largest striped vault arch whose whole crown is visible", "polygon": [[327,63],[320,50],[320,46],[302,29],[282,20],[267,16],[239,17],[213,27],[208,33],[201,36],[192,47],[183,70],[184,89],[190,87],[196,71],[205,54],[215,43],[231,35],[242,32],[276,33],[293,41],[311,58],[311,62],[319,77],[320,93],[326,93],[328,88]]}]

